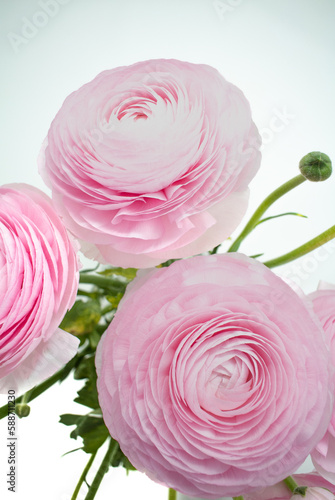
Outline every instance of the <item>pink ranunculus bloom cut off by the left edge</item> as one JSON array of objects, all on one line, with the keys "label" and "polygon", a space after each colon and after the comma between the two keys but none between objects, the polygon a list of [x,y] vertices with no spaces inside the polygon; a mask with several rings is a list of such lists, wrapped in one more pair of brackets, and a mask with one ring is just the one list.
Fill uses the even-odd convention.
[{"label": "pink ranunculus bloom cut off by the left edge", "polygon": [[79,343],[58,328],[76,297],[77,245],[51,200],[26,184],[0,187],[0,278],[0,392],[24,392]]}]

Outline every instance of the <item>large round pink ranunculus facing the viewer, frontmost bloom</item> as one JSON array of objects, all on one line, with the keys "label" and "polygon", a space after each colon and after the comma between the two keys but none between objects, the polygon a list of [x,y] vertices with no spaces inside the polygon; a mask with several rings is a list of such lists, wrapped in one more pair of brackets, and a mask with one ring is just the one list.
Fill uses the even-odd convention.
[{"label": "large round pink ranunculus facing the viewer, frontmost bloom", "polygon": [[307,299],[242,254],[142,273],[97,349],[100,405],[123,452],[153,480],[204,498],[291,474],[334,399]]}]

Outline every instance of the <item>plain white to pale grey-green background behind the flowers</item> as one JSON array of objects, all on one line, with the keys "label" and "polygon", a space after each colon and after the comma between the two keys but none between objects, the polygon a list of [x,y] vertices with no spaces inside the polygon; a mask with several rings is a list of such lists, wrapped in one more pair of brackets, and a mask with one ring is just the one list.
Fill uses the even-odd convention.
[{"label": "plain white to pale grey-green background behind the flowers", "polygon": [[[299,160],[309,151],[323,151],[334,160],[334,1],[55,1],[52,16],[41,16],[43,0],[0,2],[0,184],[26,182],[48,192],[36,157],[65,97],[102,70],[151,58],[210,64],[247,96],[264,139],[248,215],[271,190],[298,173]],[[280,113],[287,115],[284,121],[274,118]],[[271,130],[274,123],[276,131]],[[334,224],[334,194],[335,176],[299,186],[270,213],[297,211],[308,219],[266,223],[241,250],[249,255],[266,252],[272,258],[324,231]],[[306,292],[319,279],[335,283],[335,245],[327,249],[276,272]],[[88,457],[78,451],[61,458],[80,443],[57,422],[61,413],[85,412],[72,402],[80,385],[69,381],[56,386],[31,404],[29,418],[18,422],[15,495],[5,488],[6,426],[1,422],[1,498],[70,500]],[[167,490],[142,474],[127,478],[123,470],[113,470],[96,498],[159,500],[167,498]]]}]

